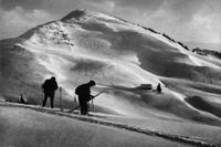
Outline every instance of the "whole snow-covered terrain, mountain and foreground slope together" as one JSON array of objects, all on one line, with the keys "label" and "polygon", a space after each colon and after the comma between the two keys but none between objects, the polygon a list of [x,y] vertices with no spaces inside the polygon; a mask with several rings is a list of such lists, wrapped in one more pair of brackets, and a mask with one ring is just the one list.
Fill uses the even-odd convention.
[{"label": "whole snow-covered terrain, mountain and foreground slope together", "polygon": [[[220,145],[221,61],[165,33],[75,10],[0,46],[0,146]],[[55,106],[62,96],[65,111],[78,105],[77,85],[96,81],[92,94],[104,91],[96,112],[39,107],[41,84],[51,76],[63,87]],[[15,104],[20,94],[30,105]]]}]

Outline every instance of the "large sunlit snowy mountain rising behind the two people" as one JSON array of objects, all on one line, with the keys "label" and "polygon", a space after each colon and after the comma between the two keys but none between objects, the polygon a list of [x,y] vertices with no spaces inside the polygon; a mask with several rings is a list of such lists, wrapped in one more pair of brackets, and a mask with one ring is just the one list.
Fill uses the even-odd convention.
[{"label": "large sunlit snowy mountain rising behind the two people", "polygon": [[[94,80],[101,113],[221,125],[221,61],[197,55],[144,27],[87,10],[1,42],[1,99],[41,105],[41,84],[54,75],[63,106]],[[141,85],[162,86],[162,94]],[[56,92],[56,106],[59,106]]]}]

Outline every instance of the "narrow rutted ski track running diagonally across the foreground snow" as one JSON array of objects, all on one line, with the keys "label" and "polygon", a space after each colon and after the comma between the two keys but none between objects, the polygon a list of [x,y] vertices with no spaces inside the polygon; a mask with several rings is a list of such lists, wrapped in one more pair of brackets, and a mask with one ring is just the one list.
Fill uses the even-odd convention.
[{"label": "narrow rutted ski track running diagonally across the foreground snow", "polygon": [[138,134],[148,135],[148,136],[156,136],[156,137],[160,137],[164,139],[168,139],[168,140],[177,141],[177,143],[181,143],[181,144],[188,144],[188,145],[200,146],[200,147],[218,147],[217,144],[203,141],[196,137],[166,134],[166,133],[160,133],[157,130],[150,130],[147,128],[140,128],[137,126],[125,125],[125,124],[119,124],[119,123],[115,123],[115,122],[107,122],[107,120],[105,120],[105,118],[106,118],[105,116],[99,116],[99,115],[81,116],[81,115],[76,115],[73,113],[60,112],[57,109],[42,108],[42,107],[36,107],[36,106],[28,106],[28,105],[11,104],[11,103],[0,103],[0,106],[30,108],[32,111],[36,111],[40,113],[56,115],[56,116],[61,116],[61,117],[67,117],[71,119],[77,119],[77,120],[82,120],[82,122],[86,122],[86,123],[92,123],[92,124],[118,128],[118,129],[126,129],[129,132],[135,132]]}]

